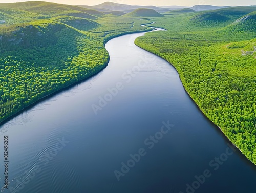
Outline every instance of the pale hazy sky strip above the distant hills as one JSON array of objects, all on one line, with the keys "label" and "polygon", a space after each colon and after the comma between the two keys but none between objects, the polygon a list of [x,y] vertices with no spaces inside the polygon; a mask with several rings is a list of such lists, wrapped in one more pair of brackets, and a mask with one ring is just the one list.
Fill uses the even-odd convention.
[{"label": "pale hazy sky strip above the distant hills", "polygon": [[[24,2],[25,0],[0,0],[0,3]],[[109,0],[49,0],[48,2],[70,4],[70,5],[97,5]],[[110,0],[111,2],[130,5],[218,5],[218,6],[238,6],[256,5],[255,0]]]}]

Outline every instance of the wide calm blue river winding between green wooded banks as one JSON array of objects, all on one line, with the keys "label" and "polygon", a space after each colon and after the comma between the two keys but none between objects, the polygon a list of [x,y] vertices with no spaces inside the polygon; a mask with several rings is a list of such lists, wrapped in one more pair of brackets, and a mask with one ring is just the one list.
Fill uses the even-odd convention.
[{"label": "wide calm blue river winding between green wooded banks", "polygon": [[9,139],[2,192],[255,191],[255,166],[202,114],[175,68],[134,44],[144,34],[110,40],[103,71],[0,127]]}]

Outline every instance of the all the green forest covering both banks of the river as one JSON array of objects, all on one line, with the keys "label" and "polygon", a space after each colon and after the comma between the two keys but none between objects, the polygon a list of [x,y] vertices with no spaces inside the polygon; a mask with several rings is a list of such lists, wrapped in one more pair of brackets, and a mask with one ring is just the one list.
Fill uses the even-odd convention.
[{"label": "all the green forest covering both banks of the river", "polygon": [[139,37],[136,45],[172,63],[202,112],[256,164],[255,11],[141,17],[47,2],[0,4],[0,123],[98,73],[109,62],[108,40],[150,31],[141,25],[156,22],[167,31]]}]

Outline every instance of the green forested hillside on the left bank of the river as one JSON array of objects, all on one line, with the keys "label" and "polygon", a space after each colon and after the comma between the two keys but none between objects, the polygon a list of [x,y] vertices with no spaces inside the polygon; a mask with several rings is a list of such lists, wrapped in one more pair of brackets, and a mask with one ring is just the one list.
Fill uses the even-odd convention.
[{"label": "green forested hillside on the left bank of the river", "polygon": [[25,7],[0,7],[0,122],[105,68],[107,40],[150,30],[140,26],[145,20],[76,6],[26,2]]}]

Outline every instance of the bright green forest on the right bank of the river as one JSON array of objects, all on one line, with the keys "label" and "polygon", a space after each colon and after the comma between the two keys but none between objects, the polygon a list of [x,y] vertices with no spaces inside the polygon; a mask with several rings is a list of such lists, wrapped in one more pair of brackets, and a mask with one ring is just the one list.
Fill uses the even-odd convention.
[{"label": "bright green forest on the right bank of the river", "polygon": [[202,112],[256,164],[256,8],[233,9],[156,18],[167,31],[135,43],[172,63]]}]

